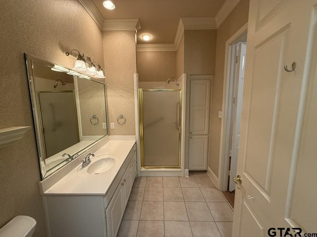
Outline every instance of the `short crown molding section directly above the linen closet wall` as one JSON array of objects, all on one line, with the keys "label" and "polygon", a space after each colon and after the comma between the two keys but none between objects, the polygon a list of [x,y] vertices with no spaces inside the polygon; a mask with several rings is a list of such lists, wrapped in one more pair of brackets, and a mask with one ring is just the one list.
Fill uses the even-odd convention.
[{"label": "short crown molding section directly above the linen closet wall", "polygon": [[217,29],[214,17],[181,18],[184,30],[210,30]]}]

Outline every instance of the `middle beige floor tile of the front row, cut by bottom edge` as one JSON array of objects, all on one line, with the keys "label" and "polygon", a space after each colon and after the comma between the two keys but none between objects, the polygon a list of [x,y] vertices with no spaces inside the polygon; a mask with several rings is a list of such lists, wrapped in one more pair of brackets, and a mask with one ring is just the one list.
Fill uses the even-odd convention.
[{"label": "middle beige floor tile of the front row, cut by bottom edge", "polygon": [[165,221],[165,237],[193,237],[189,221]]}]

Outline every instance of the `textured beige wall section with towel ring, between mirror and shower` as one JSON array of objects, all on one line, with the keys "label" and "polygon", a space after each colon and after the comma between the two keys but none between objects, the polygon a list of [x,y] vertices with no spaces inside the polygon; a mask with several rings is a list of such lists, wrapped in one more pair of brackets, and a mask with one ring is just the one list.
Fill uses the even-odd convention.
[{"label": "textured beige wall section with towel ring, between mirror and shower", "polygon": [[[114,122],[110,135],[135,135],[134,74],[136,42],[134,31],[106,31],[103,33],[106,69],[108,122]],[[120,125],[117,117],[126,123]]]}]

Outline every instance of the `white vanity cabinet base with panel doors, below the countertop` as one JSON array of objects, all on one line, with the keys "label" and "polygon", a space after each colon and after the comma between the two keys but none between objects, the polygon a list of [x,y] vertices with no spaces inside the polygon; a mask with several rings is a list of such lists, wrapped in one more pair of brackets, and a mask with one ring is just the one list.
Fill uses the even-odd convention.
[{"label": "white vanity cabinet base with panel doors, below the countertop", "polygon": [[[52,190],[43,194],[49,237],[116,237],[137,174],[135,143],[125,154],[112,180],[106,180],[110,185],[104,194]],[[71,179],[62,182],[65,189],[75,189]],[[85,180],[82,185],[94,186],[92,182]]]}]

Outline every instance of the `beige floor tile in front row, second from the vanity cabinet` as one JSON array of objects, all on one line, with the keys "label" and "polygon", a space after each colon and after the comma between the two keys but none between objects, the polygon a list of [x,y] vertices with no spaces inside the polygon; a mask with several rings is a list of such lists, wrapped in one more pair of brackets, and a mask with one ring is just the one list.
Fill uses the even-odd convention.
[{"label": "beige floor tile in front row, second from the vanity cabinet", "polygon": [[164,222],[140,221],[137,237],[164,237]]}]

